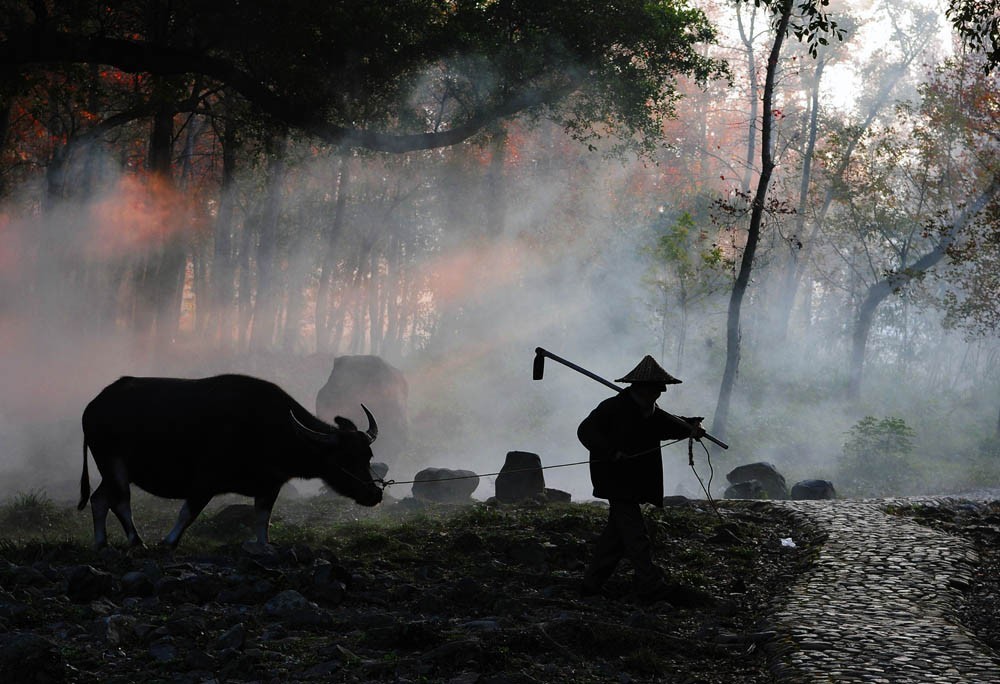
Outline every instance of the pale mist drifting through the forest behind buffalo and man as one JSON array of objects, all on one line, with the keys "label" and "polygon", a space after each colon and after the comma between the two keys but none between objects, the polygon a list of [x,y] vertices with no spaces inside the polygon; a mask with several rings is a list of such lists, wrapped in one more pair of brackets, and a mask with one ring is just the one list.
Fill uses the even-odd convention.
[{"label": "pale mist drifting through the forest behind buffalo and man", "polygon": [[[720,113],[739,94],[720,83],[690,97],[717,105],[704,114],[712,117],[709,138],[717,154],[739,158],[742,141],[726,131],[736,130],[742,114],[727,120]],[[795,110],[799,100],[788,99],[787,116],[804,117]],[[837,116],[848,118],[830,131],[852,121],[849,113]],[[686,147],[701,123],[671,122],[674,142],[653,159],[604,154],[613,140],[590,150],[545,123],[514,122],[502,156],[482,141],[399,156],[345,155],[293,137],[280,181],[280,230],[266,238],[255,228],[259,244],[245,247],[238,245],[250,226],[274,208],[259,160],[242,169],[225,198],[195,183],[164,189],[137,182],[107,148],[77,148],[63,169],[76,192],[48,201],[45,180],[29,175],[0,213],[0,496],[43,490],[75,499],[83,408],[122,375],[243,372],[277,382],[314,410],[335,356],[380,354],[409,383],[409,447],[388,475],[396,480],[428,466],[496,472],[513,450],[535,452],[547,467],[585,460],[577,425],[611,390],[551,361],[544,378],[533,380],[536,347],[608,380],[651,354],[683,381],[660,406],[710,425],[742,215],[715,203],[737,197],[731,169],[706,164]],[[347,210],[336,232],[345,163]],[[789,159],[776,181],[780,198],[794,197],[796,163]],[[262,345],[250,340],[252,326],[235,304],[216,307],[198,285],[227,200],[237,218],[226,238],[245,260],[236,262],[242,265],[231,284],[244,287],[238,277],[256,274],[245,286],[263,287],[262,250],[276,251],[281,314]],[[675,229],[685,220],[687,260],[667,259],[663,239],[680,235]],[[827,222],[829,232],[807,245],[809,266],[786,332],[776,321],[792,221],[772,217],[744,306],[740,375],[724,435],[731,448],[706,453],[695,445],[695,473],[685,443],[666,446],[665,492],[701,498],[712,477],[711,493],[721,496],[725,472],[755,461],[773,463],[789,485],[829,479],[847,494],[867,491],[848,478],[872,483],[880,495],[997,487],[1000,345],[994,335],[945,326],[936,302],[944,289],[960,287],[957,281],[928,279],[882,305],[863,392],[848,398],[863,281],[848,275],[854,263],[845,266],[845,255],[861,250],[847,244],[846,218]],[[390,250],[394,240],[405,247]],[[412,295],[400,300],[409,314],[399,344],[374,348],[367,319],[355,316],[361,304],[344,315],[337,339],[317,343],[321,256],[331,244],[331,309],[374,301],[372,293],[389,282]],[[153,256],[171,249],[186,268],[176,331],[164,339],[167,314],[134,283]],[[364,262],[374,264],[367,275],[351,262],[359,250],[373,255]],[[154,319],[154,326],[135,324]],[[228,326],[221,343],[212,332],[219,321]],[[889,458],[896,456],[890,442],[862,465],[845,462],[845,443],[866,416],[901,418],[914,431],[901,460]],[[896,489],[878,487],[888,469],[900,468],[906,472],[893,480]],[[493,494],[490,480],[476,498]],[[545,480],[574,500],[591,497],[585,465],[548,469]],[[409,486],[389,493],[407,496]]]}]

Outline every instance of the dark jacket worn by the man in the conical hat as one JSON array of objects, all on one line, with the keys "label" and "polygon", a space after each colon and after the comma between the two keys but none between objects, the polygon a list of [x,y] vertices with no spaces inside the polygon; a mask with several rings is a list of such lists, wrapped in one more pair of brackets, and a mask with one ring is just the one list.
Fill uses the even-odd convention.
[{"label": "dark jacket worn by the man in the conical hat", "polygon": [[[662,506],[660,442],[683,439],[690,431],[659,408],[652,415],[643,416],[638,402],[626,388],[598,404],[580,423],[576,434],[590,451],[590,480],[595,497]],[[619,451],[630,456],[642,455],[613,461]]]}]

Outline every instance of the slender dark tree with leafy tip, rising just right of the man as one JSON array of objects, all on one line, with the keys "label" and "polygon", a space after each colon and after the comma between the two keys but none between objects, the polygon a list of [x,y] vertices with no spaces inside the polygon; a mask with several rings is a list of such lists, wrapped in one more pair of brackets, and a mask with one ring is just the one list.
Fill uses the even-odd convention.
[{"label": "slender dark tree with leafy tip, rising just right of the man", "polygon": [[719,436],[725,435],[726,422],[729,419],[729,405],[732,400],[733,386],[740,363],[740,312],[743,298],[750,284],[750,272],[753,269],[757,244],[760,240],[761,221],[764,216],[771,175],[774,172],[772,124],[775,116],[774,92],[778,72],[778,58],[785,38],[791,34],[805,40],[809,52],[816,56],[819,46],[829,41],[827,35],[841,36],[837,23],[819,7],[823,0],[754,0],[757,6],[764,5],[772,15],[774,39],[767,59],[764,78],[763,102],[760,122],[760,174],[757,186],[750,203],[749,225],[747,227],[746,244],[740,257],[739,270],[729,298],[729,311],[726,317],[726,366],[722,375],[722,385],[719,388],[719,401],[712,423],[712,432]]}]

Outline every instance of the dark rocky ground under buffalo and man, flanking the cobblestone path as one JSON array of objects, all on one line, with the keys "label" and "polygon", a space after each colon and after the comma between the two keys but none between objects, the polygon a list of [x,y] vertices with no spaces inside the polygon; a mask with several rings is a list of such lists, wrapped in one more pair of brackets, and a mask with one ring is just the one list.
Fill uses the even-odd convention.
[{"label": "dark rocky ground under buffalo and man, flanking the cobblestone path", "polygon": [[[233,504],[173,554],[94,552],[88,513],[6,504],[0,681],[772,682],[769,607],[823,541],[762,502],[650,510],[675,592],[643,605],[624,574],[605,596],[576,592],[606,518],[595,504],[279,501],[273,546],[239,543]],[[135,509],[147,538],[169,529],[173,505]],[[1000,511],[894,512],[983,547],[965,617],[996,646]]]}]

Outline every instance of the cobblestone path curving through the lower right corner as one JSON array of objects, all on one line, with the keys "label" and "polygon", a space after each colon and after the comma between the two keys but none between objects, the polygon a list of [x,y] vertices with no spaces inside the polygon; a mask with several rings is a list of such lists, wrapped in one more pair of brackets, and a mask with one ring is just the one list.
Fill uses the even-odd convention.
[{"label": "cobblestone path curving through the lower right corner", "polygon": [[885,501],[776,503],[829,535],[773,617],[779,682],[1000,683],[1000,655],[956,612],[970,544],[883,512]]}]

